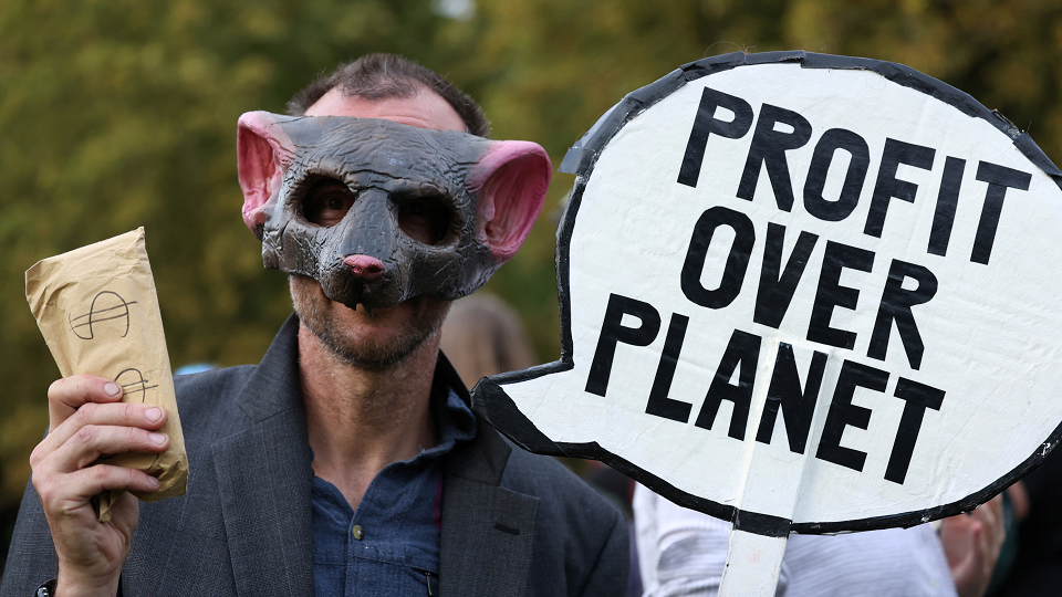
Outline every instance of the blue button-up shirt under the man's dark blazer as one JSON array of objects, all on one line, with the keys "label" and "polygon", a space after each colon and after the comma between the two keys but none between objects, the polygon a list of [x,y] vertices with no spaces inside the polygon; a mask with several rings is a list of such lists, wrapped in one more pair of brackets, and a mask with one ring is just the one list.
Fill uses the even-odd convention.
[{"label": "blue button-up shirt under the man's dark blazer", "polygon": [[313,585],[317,596],[438,595],[442,457],[476,436],[476,417],[450,388],[431,388],[439,443],[393,462],[369,483],[357,512],[313,478]]}]

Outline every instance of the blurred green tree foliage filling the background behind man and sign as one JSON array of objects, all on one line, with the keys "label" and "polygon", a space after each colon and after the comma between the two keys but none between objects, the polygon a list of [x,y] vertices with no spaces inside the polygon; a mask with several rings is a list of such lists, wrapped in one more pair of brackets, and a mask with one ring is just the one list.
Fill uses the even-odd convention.
[{"label": "blurred green tree foliage filling the background behind man and sign", "polygon": [[[900,62],[1029,128],[1062,160],[1062,2],[1038,0],[0,2],[0,509],[18,500],[58,376],[22,295],[34,261],[147,228],[170,357],[257,362],[290,311],[243,228],[235,124],[282,112],[320,71],[398,52],[479,98],[497,138],[565,149],[626,93],[732,51]],[[525,249],[490,283],[559,355],[558,175]],[[633,269],[636,269],[633,266]],[[2,541],[2,540],[0,540]]]}]

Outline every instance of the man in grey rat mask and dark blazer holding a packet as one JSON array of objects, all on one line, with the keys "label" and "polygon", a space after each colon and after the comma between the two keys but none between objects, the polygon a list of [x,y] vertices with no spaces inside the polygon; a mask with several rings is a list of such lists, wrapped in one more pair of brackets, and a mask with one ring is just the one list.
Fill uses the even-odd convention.
[{"label": "man in grey rat mask and dark blazer holding a packet", "polygon": [[622,594],[623,519],[475,416],[438,349],[449,300],[525,238],[544,151],[467,134],[479,107],[398,56],[292,111],[313,118],[244,115],[239,150],[244,221],[298,317],[258,367],[177,378],[188,493],[140,516],[124,494],[101,524],[92,496],[154,479],[90,464],[164,450],[165,412],[107,379],[53,384],[0,594]]}]

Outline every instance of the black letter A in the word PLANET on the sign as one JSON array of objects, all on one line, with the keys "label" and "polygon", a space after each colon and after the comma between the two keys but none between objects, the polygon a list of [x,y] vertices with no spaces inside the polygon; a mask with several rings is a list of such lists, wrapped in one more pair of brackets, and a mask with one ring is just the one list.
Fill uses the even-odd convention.
[{"label": "black letter A in the word PLANET on the sign", "polygon": [[[756,381],[756,364],[760,358],[760,337],[735,329],[730,336],[730,344],[722,353],[719,368],[716,369],[711,385],[708,386],[708,396],[700,407],[697,421],[694,423],[702,429],[711,429],[711,423],[719,412],[719,405],[723,400],[733,402],[733,415],[730,417],[730,429],[727,433],[733,439],[745,439],[745,428],[749,422],[749,406],[752,404],[752,384]],[[741,366],[738,374],[738,385],[730,384],[733,371]]]}]

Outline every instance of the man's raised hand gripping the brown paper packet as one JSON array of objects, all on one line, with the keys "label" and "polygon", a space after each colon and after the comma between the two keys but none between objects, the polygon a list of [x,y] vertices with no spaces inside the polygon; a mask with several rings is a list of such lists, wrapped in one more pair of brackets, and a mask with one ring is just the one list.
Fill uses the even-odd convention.
[{"label": "man's raised hand gripping the brown paper packet", "polygon": [[150,492],[158,480],[135,469],[90,465],[104,454],[162,452],[169,438],[155,433],[166,411],[122,404],[122,388],[91,375],[60,379],[48,389],[49,433],[30,455],[33,486],[59,556],[56,594],[64,597],[117,593],[122,565],[139,513],[123,493],[101,523],[90,501],[104,490]]}]

